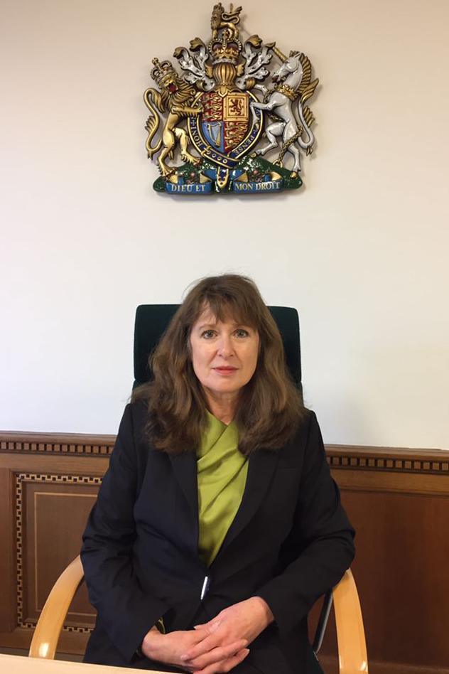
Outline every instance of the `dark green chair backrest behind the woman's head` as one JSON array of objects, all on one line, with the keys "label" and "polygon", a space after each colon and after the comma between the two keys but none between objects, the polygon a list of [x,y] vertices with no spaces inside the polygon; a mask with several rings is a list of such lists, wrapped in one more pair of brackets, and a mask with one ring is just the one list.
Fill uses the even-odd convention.
[{"label": "dark green chair backrest behind the woman's head", "polygon": [[[140,304],[134,324],[134,387],[151,379],[148,355],[160,340],[179,304]],[[298,311],[289,306],[269,306],[281,333],[286,363],[301,390],[301,344]]]}]

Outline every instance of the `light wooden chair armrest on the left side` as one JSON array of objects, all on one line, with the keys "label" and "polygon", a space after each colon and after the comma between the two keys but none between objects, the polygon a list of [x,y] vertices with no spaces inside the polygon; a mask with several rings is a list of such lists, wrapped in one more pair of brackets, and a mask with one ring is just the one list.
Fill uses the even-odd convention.
[{"label": "light wooden chair armrest on the left side", "polygon": [[60,574],[45,601],[31,641],[28,653],[30,658],[47,658],[48,660],[55,658],[67,611],[83,577],[84,571],[80,555],[78,555]]}]

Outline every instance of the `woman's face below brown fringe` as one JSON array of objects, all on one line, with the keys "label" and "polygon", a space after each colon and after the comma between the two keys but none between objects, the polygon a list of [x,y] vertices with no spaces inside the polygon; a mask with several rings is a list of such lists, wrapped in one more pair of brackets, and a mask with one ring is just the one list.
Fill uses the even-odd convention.
[{"label": "woman's face below brown fringe", "polygon": [[193,370],[206,395],[229,399],[254,375],[259,333],[231,318],[217,321],[206,309],[192,327],[190,347]]}]

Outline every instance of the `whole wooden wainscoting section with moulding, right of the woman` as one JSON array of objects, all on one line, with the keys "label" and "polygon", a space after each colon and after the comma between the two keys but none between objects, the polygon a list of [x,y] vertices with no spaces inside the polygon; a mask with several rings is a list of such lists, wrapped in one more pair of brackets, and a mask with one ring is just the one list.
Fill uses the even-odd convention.
[{"label": "whole wooden wainscoting section with moulding, right of the woman", "polygon": [[[370,456],[372,450],[352,448],[355,453],[328,448],[357,531],[352,569],[370,665],[448,671],[449,453],[381,450]],[[331,626],[325,656],[335,653],[334,640]]]}]

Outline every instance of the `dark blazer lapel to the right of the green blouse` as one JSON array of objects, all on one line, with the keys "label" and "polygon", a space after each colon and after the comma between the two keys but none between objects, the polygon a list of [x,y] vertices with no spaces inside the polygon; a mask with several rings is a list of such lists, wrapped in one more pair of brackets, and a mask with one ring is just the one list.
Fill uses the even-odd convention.
[{"label": "dark blazer lapel to the right of the green blouse", "polygon": [[235,515],[232,525],[227,530],[222,547],[220,548],[217,557],[215,557],[215,560],[220,557],[222,550],[234,540],[254,517],[256,510],[264,500],[277,463],[278,452],[276,451],[265,451],[261,449],[249,456],[247,483],[244,488],[242,503],[240,503],[239,510],[237,510],[237,515]]}]

